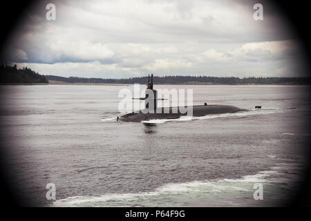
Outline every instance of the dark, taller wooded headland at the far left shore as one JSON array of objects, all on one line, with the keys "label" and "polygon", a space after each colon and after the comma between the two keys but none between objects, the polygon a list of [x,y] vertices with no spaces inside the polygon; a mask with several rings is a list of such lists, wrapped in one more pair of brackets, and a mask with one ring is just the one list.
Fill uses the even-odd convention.
[{"label": "dark, taller wooded headland at the far left shore", "polygon": [[0,84],[35,84],[48,83],[44,75],[39,75],[30,68],[17,69],[17,65],[8,66],[0,64]]}]

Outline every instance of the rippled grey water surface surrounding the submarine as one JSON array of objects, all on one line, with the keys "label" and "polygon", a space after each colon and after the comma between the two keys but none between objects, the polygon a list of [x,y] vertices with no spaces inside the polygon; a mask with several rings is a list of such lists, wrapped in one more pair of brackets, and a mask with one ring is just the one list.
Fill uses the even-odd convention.
[{"label": "rippled grey water surface surrounding the submarine", "polygon": [[118,93],[133,85],[1,87],[8,182],[36,206],[280,206],[308,166],[307,86],[158,85],[248,111],[155,126],[116,121]]}]

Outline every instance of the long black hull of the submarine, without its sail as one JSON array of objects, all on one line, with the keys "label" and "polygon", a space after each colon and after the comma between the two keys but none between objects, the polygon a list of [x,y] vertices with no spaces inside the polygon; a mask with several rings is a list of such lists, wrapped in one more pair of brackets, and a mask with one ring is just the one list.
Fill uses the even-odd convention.
[{"label": "long black hull of the submarine, without its sail", "polygon": [[[236,106],[220,105],[220,104],[200,105],[200,106],[193,106],[192,108],[194,117],[245,111],[245,109],[241,109]],[[173,108],[169,107],[169,108],[157,108],[156,113],[144,113],[144,111],[128,113],[126,115],[122,115],[119,119],[123,122],[142,122],[147,121],[149,119],[176,119],[185,115],[187,115],[187,113],[182,113],[182,110],[180,111],[178,107],[175,113],[173,113]]]}]

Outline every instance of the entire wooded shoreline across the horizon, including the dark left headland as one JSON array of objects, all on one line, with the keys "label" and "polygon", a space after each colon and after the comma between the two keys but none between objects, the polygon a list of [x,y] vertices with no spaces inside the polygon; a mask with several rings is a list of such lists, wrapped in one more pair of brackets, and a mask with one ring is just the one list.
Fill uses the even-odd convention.
[{"label": "entire wooded shoreline across the horizon, including the dark left headland", "polygon": [[[87,84],[146,84],[148,77],[127,79],[102,79],[85,77],[59,77],[39,75],[30,68],[18,69],[17,65],[0,64],[0,84],[48,83],[48,80]],[[209,77],[209,76],[163,76],[153,77],[156,84],[311,84],[310,77]]]}]

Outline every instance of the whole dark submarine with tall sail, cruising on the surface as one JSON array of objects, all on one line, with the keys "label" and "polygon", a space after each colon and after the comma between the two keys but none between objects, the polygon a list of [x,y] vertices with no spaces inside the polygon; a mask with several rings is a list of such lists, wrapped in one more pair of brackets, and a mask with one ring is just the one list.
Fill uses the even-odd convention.
[{"label": "whole dark submarine with tall sail, cruising on the surface", "polygon": [[[132,98],[132,99],[145,100],[145,109],[135,111],[132,113],[127,113],[126,115],[117,117],[117,121],[120,120],[122,122],[145,122],[151,119],[177,119],[187,115],[187,113],[185,113],[185,111],[183,110],[188,106],[161,107],[161,108],[157,107],[157,101],[164,99],[157,98],[157,90],[153,89],[153,75],[151,75],[151,80],[150,77],[148,76],[146,96],[142,98]],[[151,104],[150,108],[149,104]],[[192,108],[191,116],[193,117],[202,117],[205,115],[236,113],[238,111],[246,111],[245,109],[241,109],[236,106],[221,105],[221,104],[207,105],[207,103],[205,103],[204,105],[191,106],[191,108]]]}]

